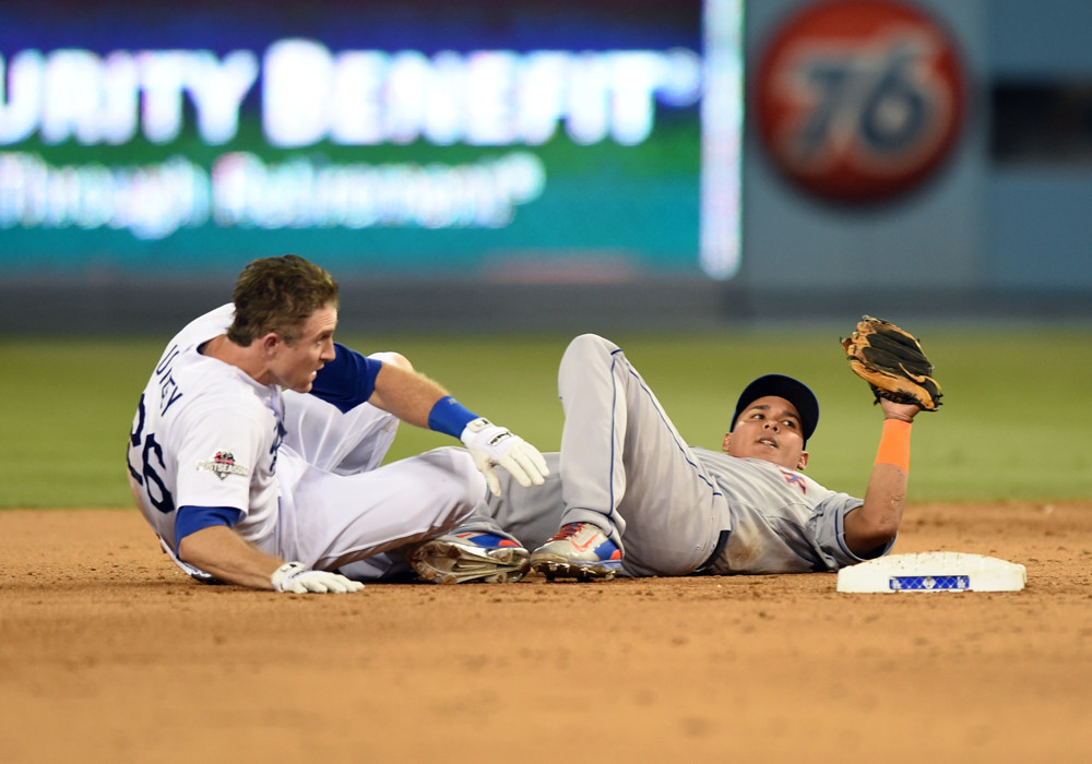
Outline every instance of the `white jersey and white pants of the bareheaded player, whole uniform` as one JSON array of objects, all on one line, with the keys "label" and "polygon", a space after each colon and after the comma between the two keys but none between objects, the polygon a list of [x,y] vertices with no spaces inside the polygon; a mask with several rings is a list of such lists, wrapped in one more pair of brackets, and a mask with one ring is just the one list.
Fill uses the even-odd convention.
[{"label": "white jersey and white pants of the bareheaded player, whole uniform", "polygon": [[[237,512],[236,533],[285,560],[322,570],[365,561],[354,568],[358,577],[406,570],[387,552],[446,533],[473,511],[485,481],[464,451],[380,466],[396,431],[392,415],[282,393],[203,356],[200,346],[226,333],[233,314],[223,306],[167,344],[130,431],[133,496],[182,570],[210,577],[177,558],[182,506]],[[347,389],[370,395],[380,361],[351,368]]]}]

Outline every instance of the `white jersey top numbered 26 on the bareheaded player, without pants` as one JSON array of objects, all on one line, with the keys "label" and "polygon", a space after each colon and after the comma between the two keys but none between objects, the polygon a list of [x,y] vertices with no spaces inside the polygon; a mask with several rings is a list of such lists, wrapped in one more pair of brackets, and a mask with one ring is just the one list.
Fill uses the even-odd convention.
[{"label": "white jersey top numbered 26 on the bareheaded player, without pants", "polygon": [[284,438],[281,391],[198,347],[227,332],[234,306],[189,323],[168,344],[141,395],[129,433],[129,479],[149,523],[177,553],[180,506],[233,508],[236,532],[271,550],[274,478]]}]

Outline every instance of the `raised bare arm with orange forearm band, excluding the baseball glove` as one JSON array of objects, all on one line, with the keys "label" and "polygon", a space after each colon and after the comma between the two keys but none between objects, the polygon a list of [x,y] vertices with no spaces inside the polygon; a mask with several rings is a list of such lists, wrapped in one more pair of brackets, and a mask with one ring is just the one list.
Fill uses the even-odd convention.
[{"label": "raised bare arm with orange forearm band, excluding the baseball glove", "polygon": [[910,475],[910,433],[917,404],[880,398],[883,434],[865,491],[865,503],[845,516],[845,542],[860,558],[873,557],[899,533],[906,506]]}]

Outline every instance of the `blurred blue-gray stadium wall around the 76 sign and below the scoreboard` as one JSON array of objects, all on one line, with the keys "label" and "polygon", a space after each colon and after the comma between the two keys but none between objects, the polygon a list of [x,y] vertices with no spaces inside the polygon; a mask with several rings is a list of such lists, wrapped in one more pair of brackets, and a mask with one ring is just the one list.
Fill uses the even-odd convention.
[{"label": "blurred blue-gray stadium wall around the 76 sign and below the scoreboard", "polygon": [[[1006,108],[999,97],[1013,88],[1031,83],[1035,93],[1060,93],[1064,100],[1092,83],[1092,48],[1080,34],[1092,26],[1092,8],[1066,0],[916,0],[914,7],[937,20],[959,50],[964,120],[946,162],[912,191],[881,205],[854,206],[794,186],[771,162],[755,123],[752,77],[762,57],[794,13],[816,4],[745,5],[743,256],[734,277],[351,273],[342,277],[344,325],[383,332],[676,331],[844,321],[864,311],[938,322],[1092,320],[1092,119],[1069,128],[1064,141],[1051,140],[1055,135],[1032,120],[1018,151],[998,147],[1007,128],[997,120]],[[1077,117],[1082,114],[1092,111]],[[0,333],[159,334],[226,300],[230,285],[229,273],[215,268],[0,272]]]}]

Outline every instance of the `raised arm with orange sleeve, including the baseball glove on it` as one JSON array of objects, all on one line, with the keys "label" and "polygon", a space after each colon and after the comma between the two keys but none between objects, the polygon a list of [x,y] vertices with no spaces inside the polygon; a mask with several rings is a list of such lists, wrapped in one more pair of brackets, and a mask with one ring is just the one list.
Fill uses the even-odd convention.
[{"label": "raised arm with orange sleeve, including the baseball glove on it", "polygon": [[850,367],[868,382],[883,409],[883,432],[865,491],[865,503],[845,516],[845,542],[860,558],[894,540],[906,506],[910,437],[914,417],[940,405],[933,363],[910,333],[864,317],[842,341]]}]

